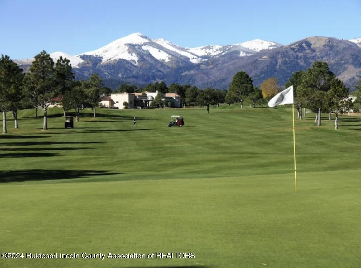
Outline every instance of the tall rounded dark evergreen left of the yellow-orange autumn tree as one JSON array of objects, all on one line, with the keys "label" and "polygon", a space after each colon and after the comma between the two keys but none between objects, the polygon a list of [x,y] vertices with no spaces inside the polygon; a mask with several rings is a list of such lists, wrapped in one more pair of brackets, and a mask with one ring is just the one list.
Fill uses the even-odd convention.
[{"label": "tall rounded dark evergreen left of the yellow-orange autumn tree", "polygon": [[233,76],[229,86],[230,98],[240,101],[243,108],[243,100],[253,91],[251,77],[244,71],[240,71]]}]

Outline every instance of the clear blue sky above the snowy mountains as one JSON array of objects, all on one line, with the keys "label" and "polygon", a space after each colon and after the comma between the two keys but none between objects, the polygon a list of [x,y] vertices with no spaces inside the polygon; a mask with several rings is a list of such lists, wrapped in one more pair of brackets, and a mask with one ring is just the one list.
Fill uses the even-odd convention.
[{"label": "clear blue sky above the snowy mountains", "polygon": [[0,53],[72,55],[134,32],[182,47],[361,37],[360,0],[0,0]]}]

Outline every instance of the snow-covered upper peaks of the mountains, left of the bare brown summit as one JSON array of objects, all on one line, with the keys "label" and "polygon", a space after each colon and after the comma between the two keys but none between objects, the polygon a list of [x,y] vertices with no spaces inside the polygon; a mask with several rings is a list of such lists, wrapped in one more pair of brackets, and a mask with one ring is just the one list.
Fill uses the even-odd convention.
[{"label": "snow-covered upper peaks of the mountains, left of the bare brown summit", "polygon": [[[150,39],[137,32],[123,38],[119,38],[99,49],[71,56],[64,52],[54,52],[50,56],[56,61],[60,56],[70,60],[74,68],[88,65],[92,58],[100,60],[101,64],[116,63],[125,60],[134,66],[142,65],[142,62],[159,61],[167,66],[180,66],[184,64],[205,62],[211,58],[220,57],[226,53],[238,51],[239,57],[255,54],[263,49],[273,49],[282,45],[255,39],[233,45],[206,45],[196,48],[183,48],[165,39]],[[18,60],[19,64],[29,65],[33,58]],[[187,63],[188,62],[188,63]]]}]

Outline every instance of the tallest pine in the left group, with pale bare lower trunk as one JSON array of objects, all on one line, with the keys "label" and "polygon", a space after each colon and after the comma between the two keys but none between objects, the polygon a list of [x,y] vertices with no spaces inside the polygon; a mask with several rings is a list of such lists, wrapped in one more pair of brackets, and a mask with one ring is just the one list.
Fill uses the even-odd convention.
[{"label": "tallest pine in the left group, with pale bare lower trunk", "polygon": [[32,105],[43,109],[43,129],[48,129],[48,107],[59,92],[57,79],[54,77],[54,62],[44,50],[34,57],[29,72],[24,78],[24,89]]}]

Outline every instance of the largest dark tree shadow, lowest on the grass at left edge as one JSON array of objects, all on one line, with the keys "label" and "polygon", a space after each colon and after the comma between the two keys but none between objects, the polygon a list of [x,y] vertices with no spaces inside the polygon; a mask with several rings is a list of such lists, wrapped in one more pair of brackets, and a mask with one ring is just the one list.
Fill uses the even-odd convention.
[{"label": "largest dark tree shadow, lowest on the grass at left edge", "polygon": [[105,176],[115,174],[121,173],[109,173],[109,171],[100,170],[8,170],[0,171],[0,183],[11,183],[18,181],[80,179],[83,177]]}]

